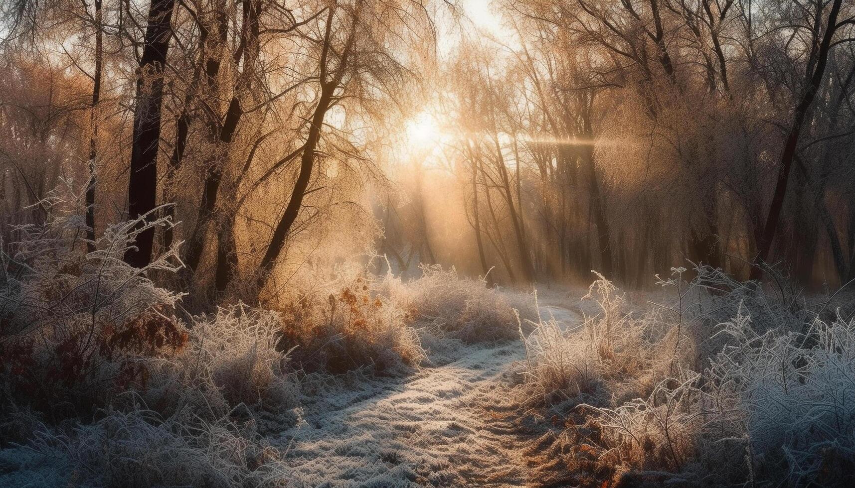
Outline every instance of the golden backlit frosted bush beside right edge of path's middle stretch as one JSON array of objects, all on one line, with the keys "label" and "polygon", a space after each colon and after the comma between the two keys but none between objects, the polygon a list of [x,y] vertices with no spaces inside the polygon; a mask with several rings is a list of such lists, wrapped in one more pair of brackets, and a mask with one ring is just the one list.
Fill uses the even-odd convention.
[{"label": "golden backlit frosted bush beside right edge of path's middle stretch", "polygon": [[[579,326],[562,329],[556,320],[528,320],[522,374],[530,399],[545,403],[583,401],[609,405],[622,398],[646,395],[675,354],[675,330],[661,320],[658,309],[642,314],[628,310],[625,297],[601,274],[583,300],[597,304],[598,314]],[[521,324],[522,325],[522,324]],[[670,346],[669,346],[670,344]],[[608,388],[604,388],[604,384]]]}]

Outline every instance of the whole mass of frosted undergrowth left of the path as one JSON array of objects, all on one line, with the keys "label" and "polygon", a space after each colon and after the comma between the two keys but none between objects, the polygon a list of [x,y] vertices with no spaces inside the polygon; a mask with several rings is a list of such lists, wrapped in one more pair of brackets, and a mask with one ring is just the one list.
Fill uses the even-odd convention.
[{"label": "whole mass of frosted undergrowth left of the path", "polygon": [[440,268],[409,282],[351,268],[274,309],[191,316],[161,285],[175,250],[144,269],[122,259],[138,232],[170,222],[110,226],[87,252],[81,200],[44,202],[46,220],[0,256],[2,482],[301,485],[269,436],[299,431],[318,404],[305,396],[341,383],[333,374],[403,378],[426,357],[422,337],[513,338],[514,309],[534,316],[528,297]]}]

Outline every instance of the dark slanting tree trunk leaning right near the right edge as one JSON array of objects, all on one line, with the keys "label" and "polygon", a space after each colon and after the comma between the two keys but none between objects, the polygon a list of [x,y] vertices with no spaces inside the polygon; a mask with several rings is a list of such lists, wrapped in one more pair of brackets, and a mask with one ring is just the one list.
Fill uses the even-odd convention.
[{"label": "dark slanting tree trunk leaning right near the right edge", "polygon": [[[831,5],[831,11],[828,13],[828,24],[826,25],[823,34],[822,43],[819,45],[817,54],[816,67],[813,68],[813,73],[809,78],[805,93],[802,95],[799,104],[796,106],[793,114],[793,126],[790,127],[787,133],[787,142],[784,144],[784,150],[781,153],[781,162],[778,166],[778,179],[775,183],[775,193],[772,196],[772,203],[769,207],[769,214],[766,217],[763,234],[758,243],[759,253],[758,262],[765,262],[769,259],[769,251],[772,249],[772,241],[775,238],[775,232],[778,229],[778,220],[781,218],[781,209],[784,205],[784,197],[787,194],[787,183],[790,178],[790,168],[793,166],[793,159],[796,156],[799,144],[799,134],[802,126],[807,119],[808,110],[811,108],[811,103],[817,97],[819,86],[823,82],[825,74],[825,66],[828,63],[828,50],[831,47],[831,39],[834,37],[834,31],[837,27],[837,15],[840,13],[840,3],[842,0],[834,0]],[[822,12],[817,11],[817,17]],[[755,266],[752,268],[751,279],[763,278],[762,268]]]}]

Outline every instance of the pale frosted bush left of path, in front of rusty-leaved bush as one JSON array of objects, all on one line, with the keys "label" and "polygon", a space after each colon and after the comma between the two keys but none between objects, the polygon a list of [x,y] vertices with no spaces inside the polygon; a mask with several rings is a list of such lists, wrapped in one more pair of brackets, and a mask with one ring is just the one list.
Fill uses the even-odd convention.
[{"label": "pale frosted bush left of path, in front of rusty-leaved bush", "polygon": [[244,303],[195,317],[186,347],[146,362],[147,381],[136,386],[162,415],[190,409],[215,419],[240,404],[253,411],[298,407],[298,381],[279,347],[280,314]]}]

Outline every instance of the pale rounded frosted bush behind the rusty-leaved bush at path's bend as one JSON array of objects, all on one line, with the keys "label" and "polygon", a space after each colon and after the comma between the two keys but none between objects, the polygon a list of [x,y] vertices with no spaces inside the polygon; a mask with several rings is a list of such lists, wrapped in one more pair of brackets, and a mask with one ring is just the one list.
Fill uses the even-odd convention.
[{"label": "pale rounded frosted bush behind the rusty-leaved bush at path's bend", "polygon": [[[392,280],[392,279],[389,279]],[[454,268],[422,265],[422,276],[407,283],[386,284],[392,300],[410,310],[413,320],[433,331],[451,333],[467,342],[516,337],[514,309],[534,318],[534,302],[510,296],[486,285],[483,279],[457,276]]]}]

